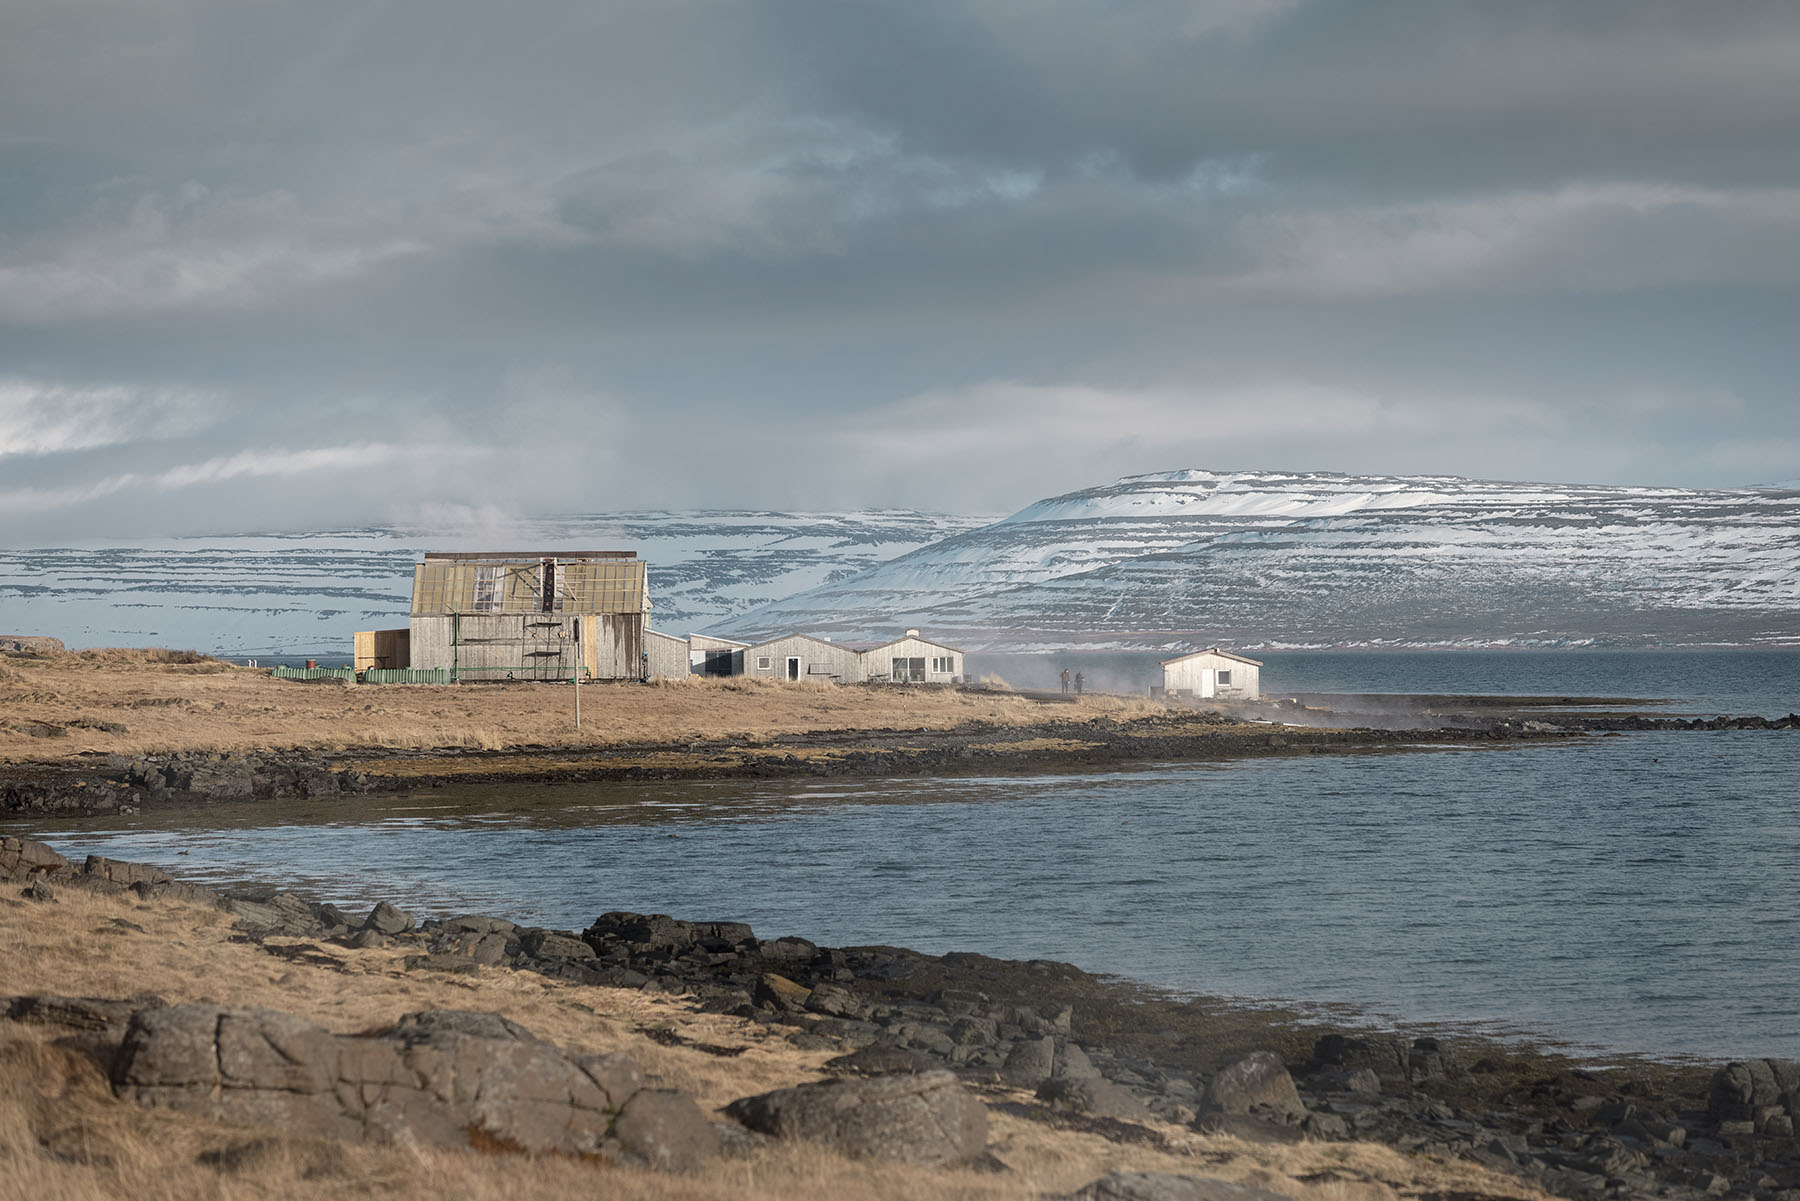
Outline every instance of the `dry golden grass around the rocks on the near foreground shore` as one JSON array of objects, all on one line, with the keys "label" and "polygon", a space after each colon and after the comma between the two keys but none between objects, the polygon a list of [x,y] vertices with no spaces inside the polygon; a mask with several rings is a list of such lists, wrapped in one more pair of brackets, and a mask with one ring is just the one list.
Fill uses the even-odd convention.
[{"label": "dry golden grass around the rocks on the near foreground shore", "polygon": [[[11,889],[9,889],[11,891]],[[504,969],[477,978],[400,971],[392,951],[328,949],[335,967],[290,963],[229,940],[212,909],[140,904],[65,889],[50,906],[0,898],[0,996],[130,996],[266,1005],[338,1032],[385,1026],[419,1008],[495,1010],[581,1050],[625,1050],[661,1082],[702,1106],[817,1079],[828,1053],[801,1052],[776,1032],[700,1016],[668,998],[549,981]],[[729,1046],[736,1059],[661,1046],[648,1026]],[[225,1201],[256,1197],[394,1197],[403,1201],[1026,1201],[1066,1194],[1112,1170],[1222,1176],[1316,1201],[1393,1201],[1431,1192],[1539,1197],[1519,1181],[1469,1165],[1409,1160],[1368,1143],[1264,1147],[1161,1127],[1168,1151],[1125,1147],[994,1113],[990,1147],[1010,1172],[857,1163],[808,1145],[772,1145],[722,1160],[702,1176],[670,1178],[572,1160],[522,1160],[475,1151],[362,1147],[281,1138],[113,1100],[92,1061],[54,1034],[0,1023],[0,1197],[11,1201]],[[1015,1095],[1015,1100],[1024,1100]],[[268,1136],[236,1169],[202,1156]],[[1305,1179],[1303,1179],[1305,1178]],[[1312,1181],[1312,1183],[1307,1183]]]}]

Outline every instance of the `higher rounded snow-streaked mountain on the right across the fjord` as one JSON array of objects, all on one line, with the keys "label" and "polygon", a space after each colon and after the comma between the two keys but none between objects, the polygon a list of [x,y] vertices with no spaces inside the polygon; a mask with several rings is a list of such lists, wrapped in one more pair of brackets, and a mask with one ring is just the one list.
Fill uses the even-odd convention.
[{"label": "higher rounded snow-streaked mountain on the right across the fjord", "polygon": [[1134,475],[722,632],[974,650],[1800,643],[1800,492]]}]

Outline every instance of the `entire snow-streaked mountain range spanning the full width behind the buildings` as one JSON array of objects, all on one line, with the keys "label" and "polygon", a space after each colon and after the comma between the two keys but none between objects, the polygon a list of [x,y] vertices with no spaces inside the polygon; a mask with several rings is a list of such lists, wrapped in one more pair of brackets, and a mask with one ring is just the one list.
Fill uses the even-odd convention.
[{"label": "entire snow-streaked mountain range spanning the full width behind the buildings", "polygon": [[[1134,475],[1013,517],[619,513],[473,540],[630,546],[657,630],[963,650],[1800,645],[1800,492],[1449,475]],[[466,542],[466,538],[464,538]],[[7,627],[72,646],[346,654],[407,623],[418,528],[0,549]]]}]

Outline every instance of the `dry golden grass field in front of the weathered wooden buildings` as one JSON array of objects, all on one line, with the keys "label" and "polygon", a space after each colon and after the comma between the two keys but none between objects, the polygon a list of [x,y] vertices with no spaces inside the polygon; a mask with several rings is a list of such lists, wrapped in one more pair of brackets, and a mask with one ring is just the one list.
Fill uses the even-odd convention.
[{"label": "dry golden grass field in front of the weathered wooden buildings", "polygon": [[[85,650],[0,668],[0,762],[83,751],[322,751],[373,747],[607,747],[698,738],[769,740],[835,729],[1019,726],[1156,711],[1145,700],[1084,697],[1040,706],[1004,693],[844,688],[821,682],[693,679],[661,688],[581,688],[581,729],[565,684],[351,684],[277,681],[193,652]],[[70,726],[115,722],[124,733]],[[52,724],[61,738],[18,727]],[[9,727],[11,726],[11,727]]]}]

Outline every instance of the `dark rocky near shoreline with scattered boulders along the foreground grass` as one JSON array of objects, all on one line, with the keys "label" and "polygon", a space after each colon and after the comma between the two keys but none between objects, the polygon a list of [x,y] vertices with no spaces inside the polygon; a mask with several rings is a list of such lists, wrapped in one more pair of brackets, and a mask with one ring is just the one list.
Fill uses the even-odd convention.
[{"label": "dark rocky near shoreline with scattered boulders along the foreground grass", "polygon": [[[216,893],[144,864],[90,857],[77,866],[47,846],[11,837],[0,839],[0,879],[23,884],[23,895],[40,902],[52,902],[58,889],[70,888],[218,906],[243,938],[290,962],[335,963],[326,947],[398,949],[410,972],[450,978],[536,972],[682,998],[700,1012],[760,1023],[796,1046],[835,1052],[833,1088],[850,1089],[846,1082],[862,1080],[873,1084],[871,1097],[887,1095],[889,1106],[927,1106],[938,1113],[943,1120],[932,1129],[952,1131],[950,1142],[931,1142],[931,1151],[918,1152],[927,1156],[920,1161],[934,1161],[929,1156],[936,1154],[947,1156],[941,1161],[979,1158],[965,1100],[977,1097],[1006,1104],[1031,1122],[1121,1143],[1156,1143],[1165,1140],[1159,1129],[1175,1124],[1262,1143],[1375,1142],[1409,1156],[1478,1163],[1568,1197],[1800,1201],[1795,1140],[1800,1064],[1786,1061],[1719,1068],[1636,1059],[1577,1062],[1553,1052],[1442,1032],[1373,1034],[1309,1023],[1282,1010],[1177,999],[1066,963],[929,956],[900,947],[819,947],[803,938],[761,938],[740,922],[605,913],[583,931],[553,931],[486,915],[416,920],[389,904],[356,917],[274,888]],[[45,1005],[54,1010],[52,1001],[14,999],[11,1012],[14,1019],[40,1012],[41,1019]],[[207,1021],[191,1014],[180,1021],[140,1017],[142,1007],[126,1008],[131,1012],[113,1016],[121,1046],[130,1044],[131,1030],[142,1041],[149,1035],[140,1028]],[[225,1019],[214,1014],[211,1021]],[[283,1028],[274,1017],[254,1021],[263,1023],[259,1037]],[[418,1046],[479,1034],[457,1023],[463,1019],[441,1016],[419,1017],[410,1026],[403,1021],[380,1055],[418,1055]],[[673,1030],[646,1034],[680,1041]],[[328,1035],[304,1037],[317,1043]],[[484,1037],[517,1041],[499,1028]],[[337,1043],[319,1046],[320,1055],[347,1053]],[[119,1062],[124,1061],[115,1061],[113,1079],[124,1080],[117,1084],[121,1095],[153,1088],[153,1073],[142,1079],[151,1084],[131,1075],[137,1068],[130,1064],[137,1061],[126,1068]],[[626,1079],[616,1091],[625,1097],[635,1088]],[[997,1102],[999,1088],[1012,1089],[1010,1097],[1026,1089],[1033,1100]],[[817,1093],[806,1097],[817,1100]],[[745,1136],[788,1131],[824,1138],[817,1122],[806,1118],[814,1100],[743,1098],[729,1115]],[[837,1109],[848,1104],[833,1102]],[[628,1142],[630,1124],[625,1134],[617,1127],[621,1106],[607,1109],[594,1133],[596,1145],[608,1138],[617,1145]],[[673,1124],[668,1129],[686,1131],[679,1138],[659,1136],[688,1149],[679,1156],[722,1152],[718,1140],[729,1143],[736,1136],[702,1131],[686,1107],[668,1098],[641,1107]],[[682,1116],[670,1116],[675,1111]],[[324,1116],[315,1115],[317,1120],[328,1124],[353,1116],[355,1129],[374,1120],[355,1107],[346,1116],[340,1102],[319,1113]],[[893,1120],[898,1118],[875,1125]],[[508,1138],[517,1142],[526,1134],[513,1129]],[[943,1151],[950,1143],[954,1152]],[[1201,1196],[1123,1188],[1091,1196]]]}]

